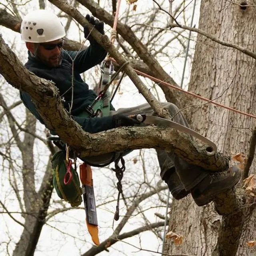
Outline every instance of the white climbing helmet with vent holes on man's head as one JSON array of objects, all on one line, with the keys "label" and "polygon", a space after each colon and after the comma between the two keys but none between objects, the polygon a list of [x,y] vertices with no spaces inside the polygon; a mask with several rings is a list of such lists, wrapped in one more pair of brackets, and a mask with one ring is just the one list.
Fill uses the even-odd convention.
[{"label": "white climbing helmet with vent holes on man's head", "polygon": [[36,10],[27,14],[20,30],[22,40],[32,43],[50,42],[66,36],[58,16],[48,10]]}]

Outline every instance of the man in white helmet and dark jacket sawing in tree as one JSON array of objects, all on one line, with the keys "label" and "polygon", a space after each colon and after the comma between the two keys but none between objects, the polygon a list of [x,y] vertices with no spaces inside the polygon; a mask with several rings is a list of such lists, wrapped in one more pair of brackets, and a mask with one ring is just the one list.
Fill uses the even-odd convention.
[{"label": "man in white helmet and dark jacket sawing in tree", "polygon": [[[101,34],[104,34],[103,22],[95,20],[89,15],[86,15],[86,19]],[[60,91],[60,96],[64,98],[64,108],[70,110],[70,106],[72,106],[71,114],[74,120],[86,132],[96,133],[120,126],[137,126],[140,123],[128,115],[155,114],[149,104],[118,110],[110,106],[109,114],[102,117],[91,117],[88,114],[88,106],[96,98],[96,93],[88,88],[88,84],[82,80],[80,74],[100,64],[107,52],[90,36],[87,27],[84,27],[84,36],[90,41],[90,46],[80,52],[62,49],[62,38],[66,35],[64,27],[59,18],[47,10],[37,10],[26,15],[22,21],[21,34],[28,48],[26,68],[37,76],[55,83]],[[73,73],[72,60],[74,60]],[[20,97],[24,105],[44,124],[30,95],[21,91]],[[169,102],[161,104],[174,117],[175,122],[188,127],[186,119],[177,106]],[[204,170],[200,166],[188,164],[173,153],[157,150],[157,154],[161,169],[160,176],[168,184],[174,198],[181,199],[191,193],[198,206],[208,204],[216,194],[232,188],[241,177],[240,170],[234,166],[223,172],[214,173]],[[110,155],[106,154],[90,158],[90,160],[104,163],[111,159]]]}]

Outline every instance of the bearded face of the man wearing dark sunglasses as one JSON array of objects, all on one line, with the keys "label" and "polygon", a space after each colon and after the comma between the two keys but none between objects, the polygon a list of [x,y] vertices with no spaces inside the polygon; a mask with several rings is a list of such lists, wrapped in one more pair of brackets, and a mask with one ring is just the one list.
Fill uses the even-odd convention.
[{"label": "bearded face of the man wearing dark sunglasses", "polygon": [[62,39],[54,40],[47,43],[40,43],[36,56],[50,67],[58,67],[61,63]]}]

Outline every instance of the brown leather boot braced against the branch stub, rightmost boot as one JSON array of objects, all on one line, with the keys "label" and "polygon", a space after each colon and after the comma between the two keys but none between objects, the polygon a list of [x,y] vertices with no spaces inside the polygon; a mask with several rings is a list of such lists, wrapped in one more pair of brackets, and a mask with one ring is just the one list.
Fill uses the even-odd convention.
[{"label": "brown leather boot braced against the branch stub, rightmost boot", "polygon": [[204,180],[192,188],[192,197],[198,206],[204,206],[210,203],[216,194],[233,188],[241,176],[237,166],[231,166],[224,172],[209,172]]}]

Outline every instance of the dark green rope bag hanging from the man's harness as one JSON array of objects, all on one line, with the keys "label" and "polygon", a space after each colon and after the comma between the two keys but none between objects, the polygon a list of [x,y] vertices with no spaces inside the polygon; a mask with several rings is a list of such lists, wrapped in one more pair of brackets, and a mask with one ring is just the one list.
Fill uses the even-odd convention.
[{"label": "dark green rope bag hanging from the man's harness", "polygon": [[53,186],[61,199],[64,199],[72,207],[77,207],[82,203],[82,188],[80,187],[78,174],[72,166],[70,168],[72,180],[68,185],[64,184],[66,164],[66,153],[64,151],[58,151],[53,155]]}]

